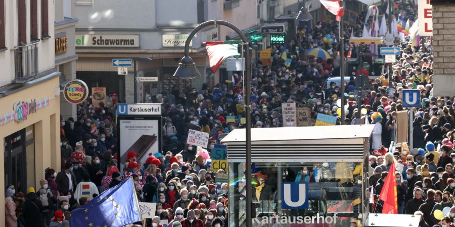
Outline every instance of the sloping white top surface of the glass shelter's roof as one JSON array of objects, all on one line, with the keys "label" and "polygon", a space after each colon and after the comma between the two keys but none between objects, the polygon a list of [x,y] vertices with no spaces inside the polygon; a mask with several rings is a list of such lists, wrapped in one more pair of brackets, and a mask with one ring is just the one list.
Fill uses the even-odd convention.
[{"label": "sloping white top surface of the glass shelter's roof", "polygon": [[[338,125],[317,127],[251,129],[251,141],[287,141],[369,138],[374,125]],[[221,142],[245,141],[245,129],[235,129]]]}]

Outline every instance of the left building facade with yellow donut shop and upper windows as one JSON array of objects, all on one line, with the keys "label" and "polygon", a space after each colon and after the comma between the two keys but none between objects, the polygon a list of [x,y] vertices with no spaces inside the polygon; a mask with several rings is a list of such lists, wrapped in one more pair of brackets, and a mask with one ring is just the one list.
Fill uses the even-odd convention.
[{"label": "left building facade with yellow donut shop and upper windows", "polygon": [[[59,170],[60,89],[55,69],[54,3],[0,1],[0,187],[38,187]],[[5,197],[0,190],[0,197]],[[0,207],[0,223],[5,223]]]}]

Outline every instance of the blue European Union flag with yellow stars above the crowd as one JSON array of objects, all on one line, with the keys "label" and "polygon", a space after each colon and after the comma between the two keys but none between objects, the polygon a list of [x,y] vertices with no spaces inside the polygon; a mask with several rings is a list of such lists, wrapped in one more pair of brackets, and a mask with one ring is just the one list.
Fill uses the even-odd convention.
[{"label": "blue European Union flag with yellow stars above the crowd", "polygon": [[141,221],[131,178],[71,211],[71,226],[114,227]]}]

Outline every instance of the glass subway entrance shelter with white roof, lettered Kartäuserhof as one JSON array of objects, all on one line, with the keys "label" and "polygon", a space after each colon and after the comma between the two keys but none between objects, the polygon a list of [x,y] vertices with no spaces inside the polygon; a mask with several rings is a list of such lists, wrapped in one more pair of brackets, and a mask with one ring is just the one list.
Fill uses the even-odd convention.
[{"label": "glass subway entrance shelter with white roof, lettered Kart\u00e4userhof", "polygon": [[[362,226],[373,127],[252,129],[253,226]],[[245,129],[221,142],[228,145],[229,225],[245,226]]]}]

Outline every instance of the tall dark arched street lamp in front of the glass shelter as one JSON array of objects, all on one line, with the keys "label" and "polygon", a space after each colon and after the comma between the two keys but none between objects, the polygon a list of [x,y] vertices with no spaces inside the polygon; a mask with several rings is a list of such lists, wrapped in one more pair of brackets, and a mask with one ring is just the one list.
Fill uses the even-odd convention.
[{"label": "tall dark arched street lamp in front of the glass shelter", "polygon": [[245,130],[245,143],[246,143],[246,149],[245,149],[245,162],[246,162],[246,169],[245,169],[245,176],[246,176],[246,226],[247,227],[252,227],[253,222],[252,222],[252,185],[251,185],[251,91],[250,91],[250,80],[251,80],[251,59],[250,59],[250,51],[249,51],[249,44],[248,40],[243,34],[243,32],[234,24],[231,24],[230,22],[227,21],[222,21],[222,20],[210,20],[206,21],[200,25],[198,25],[196,28],[191,31],[190,35],[188,36],[186,42],[185,42],[185,56],[180,60],[180,63],[178,64],[178,68],[174,73],[174,77],[178,77],[181,79],[193,79],[198,76],[201,76],[199,71],[196,68],[195,63],[193,62],[193,59],[191,59],[190,54],[189,54],[189,49],[190,49],[190,42],[193,39],[194,35],[201,29],[212,26],[212,25],[224,25],[226,27],[229,27],[233,29],[242,39],[243,43],[242,45],[245,45],[245,52],[246,52],[246,76],[244,77],[244,85],[245,85],[245,91],[244,91],[244,101],[245,101],[245,122],[246,122],[246,130]]}]

